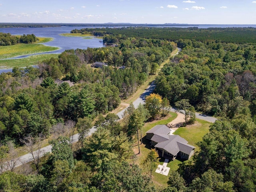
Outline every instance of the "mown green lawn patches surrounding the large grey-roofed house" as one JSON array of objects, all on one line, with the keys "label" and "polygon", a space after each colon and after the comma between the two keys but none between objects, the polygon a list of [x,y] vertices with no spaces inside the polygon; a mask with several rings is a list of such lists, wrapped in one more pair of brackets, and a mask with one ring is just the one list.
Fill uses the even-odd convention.
[{"label": "mown green lawn patches surrounding the large grey-roofed house", "polygon": [[[145,126],[142,128],[143,136],[144,138],[142,139],[142,145],[140,145],[140,154],[137,155],[137,160],[136,163],[142,168],[142,172],[148,174],[147,169],[142,165],[142,161],[146,158],[148,152],[150,152],[151,146],[149,140],[146,139],[146,131],[150,130],[152,127],[158,124],[167,124],[174,120],[176,118],[177,114],[176,113],[170,113],[170,116],[167,118],[164,118],[159,121],[154,121],[154,122],[149,122],[146,123]],[[184,139],[188,141],[188,144],[191,144],[196,147],[195,151],[198,151],[199,148],[196,145],[197,142],[202,141],[202,137],[209,132],[209,126],[212,123],[196,119],[196,123],[193,125],[189,125],[186,127],[180,127],[174,134],[180,135]],[[135,151],[137,151],[138,146],[134,146]],[[170,167],[170,170],[177,170],[179,168],[179,164],[182,162],[188,162],[189,160],[182,161],[179,159],[175,159],[174,161],[168,162],[167,167]],[[160,164],[162,165],[164,163],[164,158],[160,159]],[[168,181],[168,176],[164,176],[162,174],[158,174],[153,171],[152,173],[152,181],[156,184],[157,187],[167,187],[167,181]]]}]

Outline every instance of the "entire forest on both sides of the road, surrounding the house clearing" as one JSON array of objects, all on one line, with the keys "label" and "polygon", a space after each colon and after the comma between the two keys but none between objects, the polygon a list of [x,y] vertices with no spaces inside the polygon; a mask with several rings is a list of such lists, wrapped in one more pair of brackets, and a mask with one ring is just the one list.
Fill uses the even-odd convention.
[{"label": "entire forest on both sides of the road, surrounding the house clearing", "polygon": [[[40,162],[35,160],[30,172],[2,173],[0,189],[256,191],[256,44],[252,35],[255,29],[208,29],[212,32],[208,38],[200,37],[207,31],[196,28],[184,29],[183,33],[177,29],[176,35],[165,30],[102,28],[104,40],[115,41],[118,46],[66,50],[58,59],[40,63],[39,68],[14,68],[1,74],[0,162],[7,156],[10,158],[13,145],[27,144],[29,136],[39,143],[42,135],[58,136],[76,130],[80,138],[77,145],[72,145],[66,137],[53,139],[52,154]],[[246,37],[240,36],[239,31]],[[190,32],[196,36],[190,36]],[[184,38],[177,36],[179,33]],[[153,38],[160,34],[161,38]],[[135,109],[131,105],[122,124],[118,116],[108,114],[150,74],[155,74],[158,65],[170,58],[176,46],[182,51],[158,73],[156,94],[146,99],[145,106]],[[90,67],[96,61],[107,62],[108,67]],[[119,69],[120,66],[125,68]],[[57,85],[54,82],[57,78],[75,85],[70,87],[65,82]],[[139,130],[146,120],[155,118],[157,113],[152,109],[160,109],[163,100],[172,106],[186,100],[194,109],[218,117],[198,143],[200,150],[192,160],[169,173],[169,186],[165,189],[158,188],[148,175],[142,174],[134,164],[136,155],[131,150],[133,138],[138,137],[139,143]],[[97,130],[86,138],[92,125]]]}]

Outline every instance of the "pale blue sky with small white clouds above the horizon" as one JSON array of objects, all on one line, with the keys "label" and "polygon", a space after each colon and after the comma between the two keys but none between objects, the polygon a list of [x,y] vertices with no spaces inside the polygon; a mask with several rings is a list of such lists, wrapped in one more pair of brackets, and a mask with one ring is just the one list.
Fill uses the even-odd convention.
[{"label": "pale blue sky with small white clouds above the horizon", "polygon": [[0,0],[0,22],[256,24],[256,0]]}]

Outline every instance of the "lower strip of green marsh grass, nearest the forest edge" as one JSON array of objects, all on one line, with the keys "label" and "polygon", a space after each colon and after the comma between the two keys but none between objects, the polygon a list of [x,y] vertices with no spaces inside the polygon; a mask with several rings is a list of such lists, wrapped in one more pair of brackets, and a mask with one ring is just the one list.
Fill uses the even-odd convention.
[{"label": "lower strip of green marsh grass, nearest the forest edge", "polygon": [[8,60],[0,60],[0,68],[13,68],[16,67],[26,67],[31,65],[37,65],[38,62],[42,62],[43,60],[49,58],[58,58],[58,54],[42,54],[42,55],[33,55],[27,58],[22,59],[8,59]]}]

